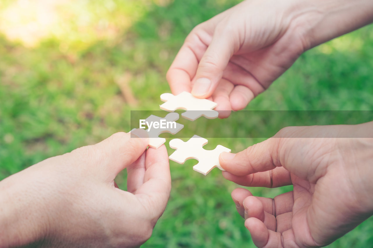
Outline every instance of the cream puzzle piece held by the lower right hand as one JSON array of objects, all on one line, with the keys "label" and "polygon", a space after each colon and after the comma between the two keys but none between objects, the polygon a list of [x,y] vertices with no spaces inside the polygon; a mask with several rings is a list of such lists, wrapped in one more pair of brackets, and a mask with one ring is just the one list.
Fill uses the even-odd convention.
[{"label": "cream puzzle piece held by the lower right hand", "polygon": [[205,150],[202,147],[207,142],[207,139],[198,135],[194,135],[187,142],[181,139],[170,140],[170,147],[176,149],[176,151],[169,158],[181,164],[187,159],[197,159],[198,163],[193,166],[193,169],[203,175],[206,175],[215,167],[224,171],[219,164],[219,155],[222,152],[231,152],[231,149],[218,145],[214,150]]}]

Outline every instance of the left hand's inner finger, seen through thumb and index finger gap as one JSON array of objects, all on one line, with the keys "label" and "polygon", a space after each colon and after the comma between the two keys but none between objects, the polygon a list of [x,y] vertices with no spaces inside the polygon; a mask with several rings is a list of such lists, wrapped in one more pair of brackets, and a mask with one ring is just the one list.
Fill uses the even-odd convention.
[{"label": "left hand's inner finger, seen through thumb and index finger gap", "polygon": [[127,191],[135,194],[136,190],[144,184],[146,151],[131,165],[127,167]]}]

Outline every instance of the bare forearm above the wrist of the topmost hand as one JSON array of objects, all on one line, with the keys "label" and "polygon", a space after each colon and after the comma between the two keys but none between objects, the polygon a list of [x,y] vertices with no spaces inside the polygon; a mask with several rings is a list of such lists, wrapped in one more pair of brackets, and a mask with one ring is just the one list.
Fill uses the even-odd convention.
[{"label": "bare forearm above the wrist of the topmost hand", "polygon": [[295,0],[290,11],[305,50],[373,22],[372,0]]}]

